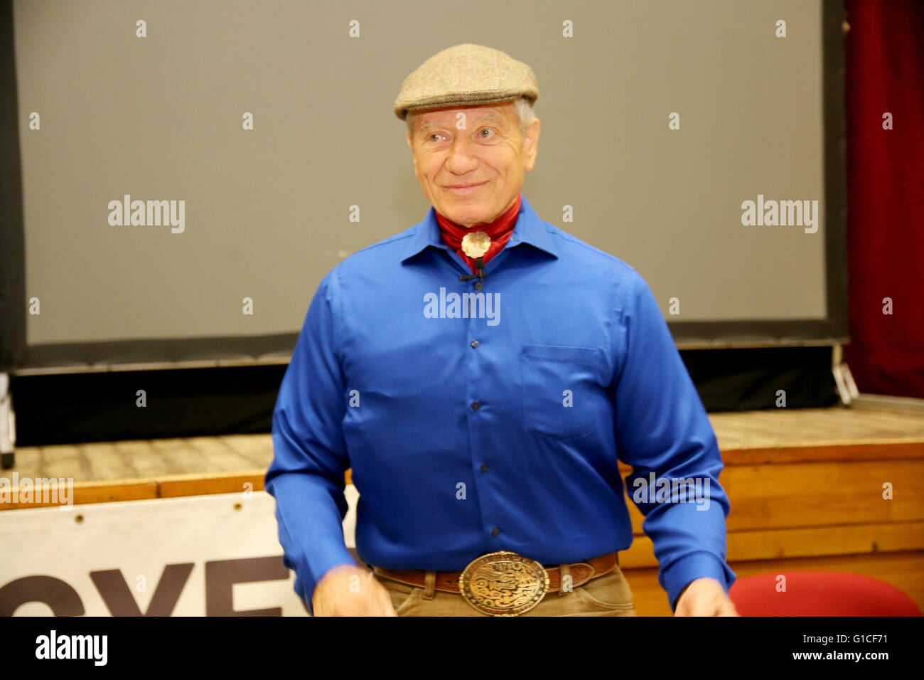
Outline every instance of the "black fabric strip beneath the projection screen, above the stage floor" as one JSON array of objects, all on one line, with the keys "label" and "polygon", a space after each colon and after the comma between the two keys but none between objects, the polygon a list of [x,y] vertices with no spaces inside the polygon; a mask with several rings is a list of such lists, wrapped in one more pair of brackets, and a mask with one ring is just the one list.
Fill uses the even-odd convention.
[{"label": "black fabric strip beneath the projection screen, above the stage floor", "polygon": [[[708,411],[838,402],[830,347],[680,352]],[[14,376],[17,446],[270,432],[285,365]],[[144,389],[147,406],[135,405]]]}]

